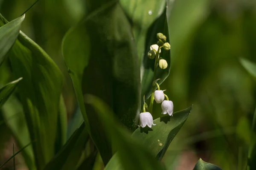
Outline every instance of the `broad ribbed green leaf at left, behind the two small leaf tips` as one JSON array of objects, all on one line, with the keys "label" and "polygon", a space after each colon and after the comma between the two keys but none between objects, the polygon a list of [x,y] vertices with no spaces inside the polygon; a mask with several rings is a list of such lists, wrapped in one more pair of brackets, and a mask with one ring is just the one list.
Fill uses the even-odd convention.
[{"label": "broad ribbed green leaf at left, behind the two small leaf tips", "polygon": [[[7,23],[0,19],[0,26]],[[41,170],[55,154],[62,75],[46,52],[21,31],[9,59],[15,77],[23,77],[17,92],[31,141],[35,141],[36,166]]]}]

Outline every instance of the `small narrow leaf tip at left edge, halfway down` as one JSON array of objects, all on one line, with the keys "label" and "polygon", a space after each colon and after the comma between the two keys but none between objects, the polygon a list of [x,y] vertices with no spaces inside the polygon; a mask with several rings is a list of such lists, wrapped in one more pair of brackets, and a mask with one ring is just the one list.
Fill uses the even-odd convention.
[{"label": "small narrow leaf tip at left edge, halfway down", "polygon": [[0,107],[6,102],[9,96],[11,96],[12,92],[15,90],[20,80],[22,80],[22,77],[0,88]]}]

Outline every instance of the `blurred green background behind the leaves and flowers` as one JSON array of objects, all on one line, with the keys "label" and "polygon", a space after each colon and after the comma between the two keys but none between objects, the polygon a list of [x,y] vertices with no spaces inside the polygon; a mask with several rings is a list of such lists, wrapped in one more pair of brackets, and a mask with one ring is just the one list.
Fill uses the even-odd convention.
[{"label": "blurred green background behind the leaves and flowers", "polygon": [[[13,20],[34,2],[0,0],[0,13]],[[163,161],[170,170],[189,170],[201,157],[224,170],[242,170],[256,106],[256,83],[239,58],[256,62],[256,1],[169,0],[168,5],[172,66],[161,88],[167,90],[175,111],[192,104],[193,109]],[[22,31],[63,73],[68,119],[78,106],[61,42],[68,29],[83,18],[85,9],[84,0],[39,0],[26,12],[22,25]],[[6,61],[0,68],[1,85],[12,80],[10,73]],[[160,105],[154,109],[159,113],[154,116],[160,116]],[[14,139],[1,115],[0,132],[2,164],[12,156]],[[99,161],[94,168],[102,167]],[[5,168],[9,169],[8,165]],[[16,168],[26,169],[21,156]]]}]

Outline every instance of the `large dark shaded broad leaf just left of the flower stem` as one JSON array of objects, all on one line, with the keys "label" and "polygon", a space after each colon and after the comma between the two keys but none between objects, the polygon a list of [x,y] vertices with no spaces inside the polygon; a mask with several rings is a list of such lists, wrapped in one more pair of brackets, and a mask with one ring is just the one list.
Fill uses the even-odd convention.
[{"label": "large dark shaded broad leaf just left of the flower stem", "polygon": [[99,96],[129,129],[136,127],[140,107],[140,70],[131,26],[122,8],[111,1],[64,37],[62,51],[86,128],[106,164],[111,159],[99,118],[84,94]]}]

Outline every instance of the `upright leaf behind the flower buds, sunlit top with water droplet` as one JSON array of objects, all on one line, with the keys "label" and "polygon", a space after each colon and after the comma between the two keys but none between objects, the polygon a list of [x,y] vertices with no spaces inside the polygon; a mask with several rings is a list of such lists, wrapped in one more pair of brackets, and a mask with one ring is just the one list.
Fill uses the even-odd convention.
[{"label": "upright leaf behind the flower buds, sunlit top with water droplet", "polygon": [[[133,32],[137,43],[137,54],[141,64],[141,99],[151,95],[154,77],[154,59],[148,58],[150,45],[157,43],[157,33],[161,32],[169,42],[168,24],[166,20],[166,0],[120,0],[122,7],[133,22]],[[168,8],[169,9],[169,8]],[[166,59],[168,68],[157,68],[157,79],[161,84],[170,72],[170,51],[161,50],[160,57]],[[143,102],[142,102],[143,103]]]}]

